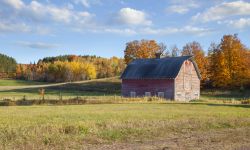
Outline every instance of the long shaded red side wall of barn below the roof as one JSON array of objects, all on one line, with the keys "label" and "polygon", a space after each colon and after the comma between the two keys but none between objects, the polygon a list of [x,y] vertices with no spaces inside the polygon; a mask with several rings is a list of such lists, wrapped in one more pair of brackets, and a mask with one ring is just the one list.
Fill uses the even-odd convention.
[{"label": "long shaded red side wall of barn below the roof", "polygon": [[151,96],[157,96],[158,92],[164,92],[166,99],[174,98],[173,79],[123,79],[122,95],[130,97],[130,92],[136,92],[136,96],[145,96],[145,92],[151,92]]}]

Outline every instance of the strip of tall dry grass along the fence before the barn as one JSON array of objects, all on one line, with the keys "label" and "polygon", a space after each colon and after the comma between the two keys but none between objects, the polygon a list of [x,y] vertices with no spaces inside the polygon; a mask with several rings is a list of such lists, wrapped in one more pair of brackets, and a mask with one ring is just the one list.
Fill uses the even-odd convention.
[{"label": "strip of tall dry grass along the fence before the barn", "polygon": [[[192,100],[191,103],[217,103],[217,104],[250,104],[247,100]],[[29,106],[29,105],[84,105],[84,104],[124,104],[124,103],[187,103],[186,101],[173,101],[160,97],[126,98],[121,96],[76,96],[56,97],[55,99],[29,99],[24,96],[21,99],[0,100],[0,106]]]}]

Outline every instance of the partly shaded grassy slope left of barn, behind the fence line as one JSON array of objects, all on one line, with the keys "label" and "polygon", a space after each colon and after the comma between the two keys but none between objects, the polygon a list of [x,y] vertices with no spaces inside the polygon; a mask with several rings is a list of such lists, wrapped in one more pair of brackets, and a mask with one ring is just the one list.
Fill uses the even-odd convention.
[{"label": "partly shaded grassy slope left of barn, behind the fence line", "polygon": [[[1,81],[0,81],[1,82]],[[38,88],[22,88],[14,90],[0,90],[0,99],[41,99]],[[84,83],[67,83],[64,85],[56,85],[44,87],[46,99],[58,99],[59,95],[63,98],[73,98],[76,96],[114,96],[121,94],[121,81],[118,78],[93,80]]]}]

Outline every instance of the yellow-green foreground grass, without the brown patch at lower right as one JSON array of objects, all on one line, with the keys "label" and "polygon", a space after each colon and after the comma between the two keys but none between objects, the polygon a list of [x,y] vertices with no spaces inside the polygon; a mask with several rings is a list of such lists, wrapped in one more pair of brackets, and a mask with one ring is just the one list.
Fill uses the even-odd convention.
[{"label": "yellow-green foreground grass, without the brown patch at lower right", "polygon": [[0,118],[0,149],[82,149],[198,131],[250,130],[249,105],[12,106],[0,107]]}]

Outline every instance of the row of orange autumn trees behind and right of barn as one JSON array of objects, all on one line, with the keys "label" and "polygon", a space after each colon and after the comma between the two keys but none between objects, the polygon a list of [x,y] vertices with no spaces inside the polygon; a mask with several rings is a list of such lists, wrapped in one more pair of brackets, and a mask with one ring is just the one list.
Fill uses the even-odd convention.
[{"label": "row of orange autumn trees behind and right of barn", "polygon": [[131,41],[124,50],[126,64],[137,58],[193,56],[201,74],[203,88],[250,87],[250,50],[236,34],[224,35],[220,43],[211,43],[206,53],[201,45],[190,42],[182,49],[167,49],[155,40]]}]

